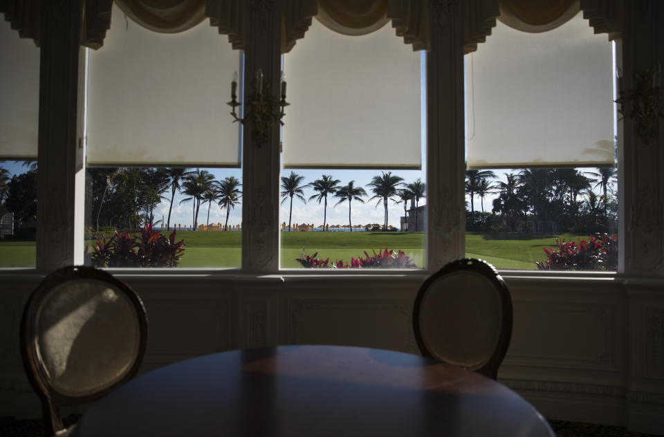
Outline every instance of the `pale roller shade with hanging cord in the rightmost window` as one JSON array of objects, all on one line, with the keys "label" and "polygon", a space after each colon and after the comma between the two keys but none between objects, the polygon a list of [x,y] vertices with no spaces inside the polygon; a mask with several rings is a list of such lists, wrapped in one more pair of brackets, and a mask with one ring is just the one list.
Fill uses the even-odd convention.
[{"label": "pale roller shade with hanging cord in the rightmost window", "polygon": [[465,57],[468,168],[613,167],[613,74],[581,14],[543,33],[498,23]]}]

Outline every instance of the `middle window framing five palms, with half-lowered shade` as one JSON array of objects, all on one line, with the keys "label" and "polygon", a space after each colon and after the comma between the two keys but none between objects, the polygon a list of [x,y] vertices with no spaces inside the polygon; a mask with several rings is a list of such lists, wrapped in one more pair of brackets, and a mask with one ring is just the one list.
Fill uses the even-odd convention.
[{"label": "middle window framing five palms, with half-lowered shade", "polygon": [[282,268],[426,267],[424,59],[318,19],[285,55]]}]

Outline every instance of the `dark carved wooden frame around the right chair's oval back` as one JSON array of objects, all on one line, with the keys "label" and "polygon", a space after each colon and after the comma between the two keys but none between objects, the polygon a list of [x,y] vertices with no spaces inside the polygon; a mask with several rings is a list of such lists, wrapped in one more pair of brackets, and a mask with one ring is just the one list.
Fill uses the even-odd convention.
[{"label": "dark carved wooden frame around the right chair's oval back", "polygon": [[470,369],[495,380],[497,378],[498,368],[501,362],[503,362],[505,354],[507,353],[507,348],[510,345],[510,339],[512,337],[513,308],[512,299],[510,297],[507,284],[499,275],[498,271],[486,261],[474,258],[457,259],[456,261],[452,261],[446,264],[443,266],[443,268],[441,268],[441,270],[435,272],[424,281],[419,291],[417,292],[417,297],[415,298],[413,307],[413,328],[415,333],[415,340],[418,347],[420,348],[420,351],[425,357],[438,359],[427,348],[424,341],[424,335],[420,328],[419,315],[421,313],[422,303],[428,288],[434,282],[441,279],[441,277],[444,277],[445,275],[450,275],[454,272],[465,271],[475,272],[479,275],[482,275],[483,277],[486,277],[486,279],[492,283],[499,295],[502,308],[502,319],[498,342],[489,360],[483,366],[477,369]]}]

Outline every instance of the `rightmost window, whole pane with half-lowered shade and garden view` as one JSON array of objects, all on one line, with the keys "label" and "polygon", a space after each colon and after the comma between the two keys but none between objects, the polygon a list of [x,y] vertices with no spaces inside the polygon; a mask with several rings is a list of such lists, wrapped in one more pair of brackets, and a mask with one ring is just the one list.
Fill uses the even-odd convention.
[{"label": "rightmost window, whole pane with half-lowered shade and garden view", "polygon": [[579,13],[543,33],[499,22],[466,55],[468,256],[500,269],[617,269],[611,52]]}]

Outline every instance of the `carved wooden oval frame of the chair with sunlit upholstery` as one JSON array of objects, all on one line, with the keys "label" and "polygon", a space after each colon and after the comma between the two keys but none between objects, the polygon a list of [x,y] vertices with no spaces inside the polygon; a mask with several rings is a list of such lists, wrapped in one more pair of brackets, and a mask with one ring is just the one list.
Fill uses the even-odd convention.
[{"label": "carved wooden oval frame of the chair with sunlit upholstery", "polygon": [[[46,299],[48,294],[57,286],[68,281],[75,281],[77,279],[96,279],[111,284],[120,292],[124,292],[133,304],[138,317],[138,324],[140,329],[140,339],[138,344],[138,353],[136,361],[133,363],[129,371],[124,375],[121,380],[112,384],[103,390],[92,393],[86,396],[68,396],[61,393],[50,384],[48,374],[44,365],[42,364],[39,353],[37,351],[37,309],[40,304]],[[142,363],[147,347],[147,313],[145,306],[136,294],[136,292],[129,287],[126,283],[114,278],[110,273],[104,270],[87,266],[68,266],[60,268],[46,276],[44,280],[39,283],[35,288],[32,295],[28,298],[26,306],[24,307],[23,317],[21,318],[21,333],[20,333],[20,346],[21,357],[23,359],[24,369],[28,376],[28,381],[33,387],[37,396],[42,401],[42,413],[44,417],[44,435],[53,436],[58,431],[64,429],[62,420],[59,418],[60,405],[76,405],[84,402],[91,402],[98,398],[107,395],[111,390],[118,387],[118,385],[133,378],[140,364]]]}]

